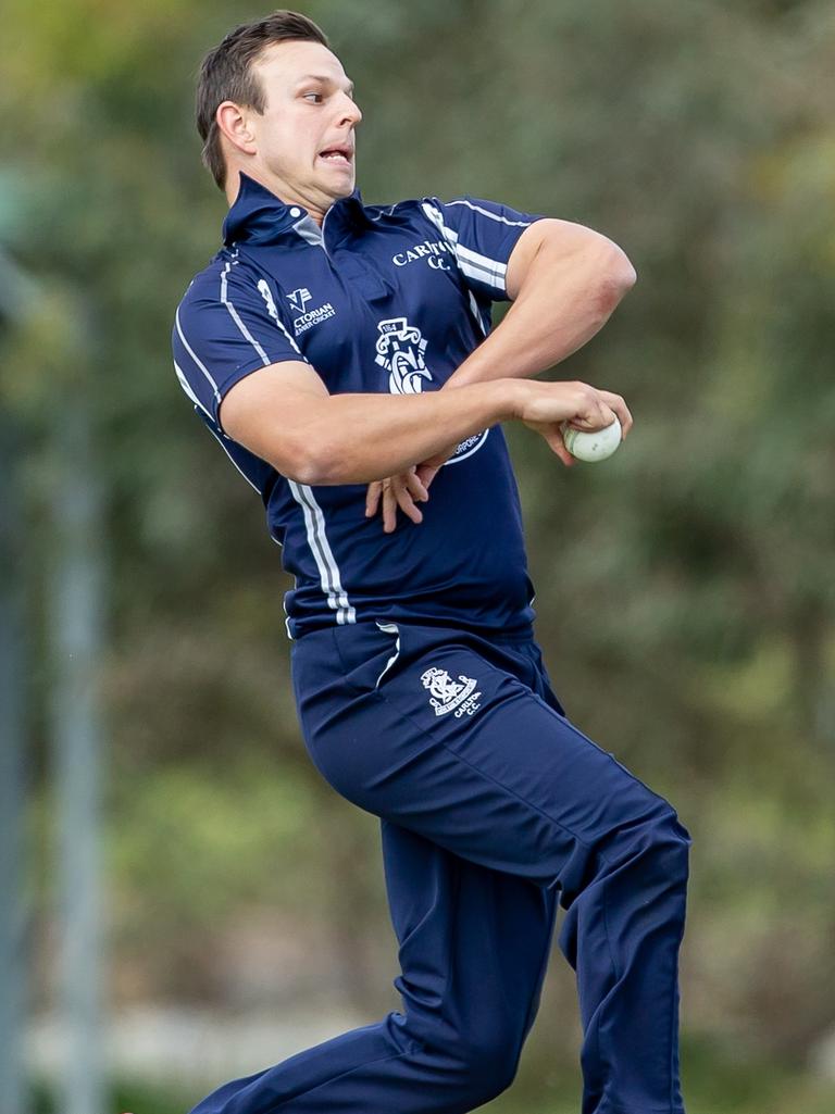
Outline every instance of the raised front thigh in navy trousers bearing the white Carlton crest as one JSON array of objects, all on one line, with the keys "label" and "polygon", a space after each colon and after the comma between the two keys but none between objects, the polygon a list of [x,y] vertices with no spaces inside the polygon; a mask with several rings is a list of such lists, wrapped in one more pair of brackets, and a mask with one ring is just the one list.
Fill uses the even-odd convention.
[{"label": "raised front thigh in navy trousers bearing the white Carlton crest", "polygon": [[339,663],[295,663],[302,729],[322,774],[369,812],[575,890],[619,830],[672,811],[533,691],[518,651],[402,626],[336,638]]}]

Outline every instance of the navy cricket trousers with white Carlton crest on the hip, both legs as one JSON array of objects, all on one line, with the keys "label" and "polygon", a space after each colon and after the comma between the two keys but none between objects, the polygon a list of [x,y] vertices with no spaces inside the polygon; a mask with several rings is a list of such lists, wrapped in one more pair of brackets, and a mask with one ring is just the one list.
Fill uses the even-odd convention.
[{"label": "navy cricket trousers with white Carlton crest on the hip, both legs", "polygon": [[682,1114],[690,837],[565,717],[536,644],[360,623],[293,645],[305,744],[380,817],[402,1012],[220,1087],[193,1114],[463,1114],[512,1082],[557,902],[582,1114]]}]

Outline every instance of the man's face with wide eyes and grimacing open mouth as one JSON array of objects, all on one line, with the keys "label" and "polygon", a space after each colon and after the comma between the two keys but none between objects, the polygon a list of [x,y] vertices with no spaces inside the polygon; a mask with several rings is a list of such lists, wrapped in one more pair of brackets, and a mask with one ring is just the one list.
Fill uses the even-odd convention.
[{"label": "man's face with wide eyes and grimacing open mouth", "polygon": [[247,114],[254,177],[288,204],[324,214],[356,184],[355,128],[362,119],[342,63],[320,42],[276,42],[253,63],[263,115]]}]

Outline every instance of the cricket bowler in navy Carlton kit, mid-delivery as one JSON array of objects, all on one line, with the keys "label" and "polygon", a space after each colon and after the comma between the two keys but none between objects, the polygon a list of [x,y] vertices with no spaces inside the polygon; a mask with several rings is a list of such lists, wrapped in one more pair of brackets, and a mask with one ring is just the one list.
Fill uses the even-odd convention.
[{"label": "cricket bowler in navy Carlton kit, mid-delivery", "polygon": [[[231,208],[186,292],[177,375],[260,492],[297,584],[293,684],[323,776],[381,818],[402,1013],[222,1086],[198,1114],[444,1114],[512,1081],[557,902],[584,1114],[680,1114],[690,839],[582,735],[532,636],[499,423],[566,466],[560,424],[618,394],[532,377],[634,272],[605,237],[504,205],[366,206],[351,82],[279,11],[204,60],[197,123]],[[513,302],[491,331],[491,303]]]}]

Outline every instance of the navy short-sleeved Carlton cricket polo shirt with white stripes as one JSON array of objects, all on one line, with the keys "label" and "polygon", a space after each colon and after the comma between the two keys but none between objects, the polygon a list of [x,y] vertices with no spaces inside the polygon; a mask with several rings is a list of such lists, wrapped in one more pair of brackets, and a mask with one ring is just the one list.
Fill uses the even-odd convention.
[{"label": "navy short-sleeved Carlton cricket polo shirt with white stripes", "polygon": [[183,390],[259,492],[295,577],[291,637],[363,620],[530,631],[518,494],[501,428],[468,438],[438,472],[420,525],[365,516],[366,485],[309,486],[232,440],[219,408],[251,372],[302,360],[331,394],[437,391],[506,300],[507,260],[538,216],[474,197],[336,202],[321,228],[241,175],[223,247],[176,311]]}]

